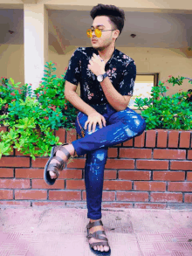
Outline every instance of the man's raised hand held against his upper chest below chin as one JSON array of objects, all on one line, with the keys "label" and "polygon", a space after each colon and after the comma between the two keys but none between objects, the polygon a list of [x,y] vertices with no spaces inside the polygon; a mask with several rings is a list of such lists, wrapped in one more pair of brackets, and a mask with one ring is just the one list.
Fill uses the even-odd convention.
[{"label": "man's raised hand held against his upper chest below chin", "polygon": [[106,73],[105,71],[105,62],[101,61],[101,58],[99,55],[96,55],[93,53],[92,59],[89,60],[88,68],[96,75]]}]

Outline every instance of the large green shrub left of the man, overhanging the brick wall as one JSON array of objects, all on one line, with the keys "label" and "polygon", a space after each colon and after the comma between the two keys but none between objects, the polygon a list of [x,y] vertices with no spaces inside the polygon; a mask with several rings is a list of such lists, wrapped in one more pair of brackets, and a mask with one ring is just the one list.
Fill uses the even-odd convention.
[{"label": "large green shrub left of the man, overhanging the brick wall", "polygon": [[31,84],[16,89],[20,83],[15,85],[11,78],[12,84],[2,80],[0,124],[9,131],[0,133],[0,157],[10,155],[11,145],[33,159],[35,155],[49,156],[51,146],[62,144],[53,135],[54,129],[75,128],[78,109],[65,99],[65,80],[51,74],[56,70],[52,66],[51,62],[45,65],[44,82],[34,92]]}]

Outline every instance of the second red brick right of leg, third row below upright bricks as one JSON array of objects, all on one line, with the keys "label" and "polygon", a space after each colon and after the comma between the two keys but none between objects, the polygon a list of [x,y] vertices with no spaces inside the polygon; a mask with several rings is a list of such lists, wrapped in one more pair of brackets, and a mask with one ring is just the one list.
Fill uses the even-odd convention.
[{"label": "second red brick right of leg, third row below upright bricks", "polygon": [[119,170],[119,179],[124,180],[149,180],[150,171],[140,170]]}]

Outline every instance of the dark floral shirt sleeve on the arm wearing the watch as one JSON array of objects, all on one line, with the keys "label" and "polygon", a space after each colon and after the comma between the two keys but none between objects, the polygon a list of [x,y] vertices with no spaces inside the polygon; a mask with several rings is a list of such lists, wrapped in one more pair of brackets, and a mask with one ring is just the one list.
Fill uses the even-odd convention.
[{"label": "dark floral shirt sleeve on the arm wearing the watch", "polygon": [[119,83],[119,93],[121,95],[133,96],[134,81],[136,79],[136,65],[134,60],[127,64]]}]

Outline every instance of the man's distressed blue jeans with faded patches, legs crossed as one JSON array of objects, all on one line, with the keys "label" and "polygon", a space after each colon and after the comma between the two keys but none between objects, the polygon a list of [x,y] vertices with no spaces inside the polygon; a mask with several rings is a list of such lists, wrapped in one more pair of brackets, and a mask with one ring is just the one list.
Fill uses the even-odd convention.
[{"label": "man's distressed blue jeans with faded patches, legs crossed", "polygon": [[[134,110],[127,107],[125,110],[116,111],[110,104],[103,105],[100,111],[98,106],[90,105],[106,119],[106,127],[99,128],[97,123],[95,132],[93,126],[88,132],[88,125],[85,130],[87,114],[79,112],[79,123],[75,121],[77,133],[80,135],[72,145],[78,156],[86,154],[85,183],[86,183],[86,202],[87,218],[101,218],[101,201],[104,181],[104,170],[107,158],[108,147],[126,142],[133,137],[139,136],[146,129],[146,122]],[[102,122],[102,121],[101,121]],[[84,129],[85,137],[82,137],[80,128]]]}]

